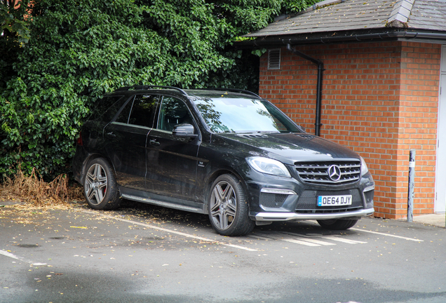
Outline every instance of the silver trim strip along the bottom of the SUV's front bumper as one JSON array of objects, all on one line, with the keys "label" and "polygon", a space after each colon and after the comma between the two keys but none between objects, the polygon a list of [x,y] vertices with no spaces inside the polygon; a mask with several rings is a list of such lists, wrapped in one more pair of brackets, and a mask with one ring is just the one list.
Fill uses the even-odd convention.
[{"label": "silver trim strip along the bottom of the SUV's front bumper", "polygon": [[345,213],[257,213],[256,221],[288,221],[288,220],[330,220],[351,217],[367,217],[373,215],[374,208],[354,210]]}]

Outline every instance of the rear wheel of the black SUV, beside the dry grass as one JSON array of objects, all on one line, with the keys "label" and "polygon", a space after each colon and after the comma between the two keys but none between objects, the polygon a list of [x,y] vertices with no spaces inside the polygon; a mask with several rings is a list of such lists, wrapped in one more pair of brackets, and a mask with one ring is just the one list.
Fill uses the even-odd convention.
[{"label": "rear wheel of the black SUV, beside the dry grass", "polygon": [[118,184],[111,166],[104,159],[97,158],[88,163],[83,180],[83,195],[90,208],[96,210],[119,208],[121,198]]}]

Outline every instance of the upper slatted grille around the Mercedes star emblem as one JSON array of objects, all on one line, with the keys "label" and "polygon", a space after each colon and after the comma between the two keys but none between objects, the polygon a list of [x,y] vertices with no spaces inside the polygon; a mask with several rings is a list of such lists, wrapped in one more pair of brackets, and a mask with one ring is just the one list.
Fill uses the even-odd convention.
[{"label": "upper slatted grille around the Mercedes star emblem", "polygon": [[[332,180],[328,175],[331,166],[339,167],[339,180]],[[311,184],[349,184],[360,178],[360,161],[302,162],[295,163],[299,177],[303,182]]]}]

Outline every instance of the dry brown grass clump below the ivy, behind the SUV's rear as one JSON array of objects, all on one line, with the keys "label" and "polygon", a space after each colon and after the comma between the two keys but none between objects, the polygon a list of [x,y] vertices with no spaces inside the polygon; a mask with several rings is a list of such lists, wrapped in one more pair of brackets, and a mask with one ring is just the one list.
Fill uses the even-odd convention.
[{"label": "dry brown grass clump below the ivy, behind the SUV's rear", "polygon": [[32,203],[34,206],[50,206],[51,204],[82,201],[81,187],[69,187],[68,177],[59,175],[51,182],[44,182],[33,168],[31,175],[25,176],[18,170],[15,177],[6,178],[1,184],[0,200],[15,200]]}]

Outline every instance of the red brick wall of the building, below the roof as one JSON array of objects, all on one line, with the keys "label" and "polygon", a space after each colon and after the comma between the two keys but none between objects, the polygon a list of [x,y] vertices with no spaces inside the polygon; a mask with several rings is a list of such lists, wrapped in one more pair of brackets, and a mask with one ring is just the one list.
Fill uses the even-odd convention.
[{"label": "red brick wall of the building, below the roof", "polygon": [[[414,215],[433,213],[440,45],[413,42],[300,46],[324,62],[320,135],[364,157],[377,217],[407,215],[409,150],[417,151]],[[317,67],[285,48],[281,69],[260,60],[259,94],[314,133]]]}]

